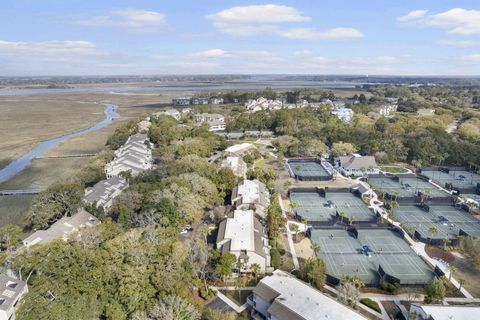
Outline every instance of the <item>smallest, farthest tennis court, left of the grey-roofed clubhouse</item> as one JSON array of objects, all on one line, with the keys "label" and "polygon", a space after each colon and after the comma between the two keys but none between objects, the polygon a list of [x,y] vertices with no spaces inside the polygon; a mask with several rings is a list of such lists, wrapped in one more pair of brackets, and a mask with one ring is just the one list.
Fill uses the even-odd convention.
[{"label": "smallest, farthest tennis court, left of the grey-roofed clubhouse", "polygon": [[299,180],[325,181],[333,176],[329,165],[320,160],[289,160],[287,165],[293,177]]}]

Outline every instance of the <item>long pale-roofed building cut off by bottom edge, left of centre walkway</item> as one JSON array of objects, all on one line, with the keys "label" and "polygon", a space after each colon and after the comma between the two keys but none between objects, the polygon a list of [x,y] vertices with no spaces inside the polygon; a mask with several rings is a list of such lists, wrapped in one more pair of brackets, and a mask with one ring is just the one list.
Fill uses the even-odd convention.
[{"label": "long pale-roofed building cut off by bottom edge, left of centre walkway", "polygon": [[366,320],[367,318],[281,270],[263,278],[247,303],[269,320]]}]

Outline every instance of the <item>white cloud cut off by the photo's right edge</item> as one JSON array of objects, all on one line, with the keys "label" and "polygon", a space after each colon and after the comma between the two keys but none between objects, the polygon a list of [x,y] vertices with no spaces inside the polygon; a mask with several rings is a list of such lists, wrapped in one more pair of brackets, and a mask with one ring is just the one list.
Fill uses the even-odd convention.
[{"label": "white cloud cut off by the photo's right edge", "polygon": [[418,27],[447,29],[449,34],[480,34],[480,10],[454,8],[431,15],[425,10],[416,10],[397,20]]}]

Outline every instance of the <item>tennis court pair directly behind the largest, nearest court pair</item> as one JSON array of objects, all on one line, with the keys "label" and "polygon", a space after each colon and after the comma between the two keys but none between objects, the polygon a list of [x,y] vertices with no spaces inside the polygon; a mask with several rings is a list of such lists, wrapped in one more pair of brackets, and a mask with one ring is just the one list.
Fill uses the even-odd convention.
[{"label": "tennis court pair directly behind the largest, nearest court pair", "polygon": [[296,204],[296,214],[300,220],[309,222],[331,222],[336,214],[359,222],[375,221],[373,212],[362,199],[351,192],[327,192],[325,198],[315,191],[290,192],[290,201]]}]

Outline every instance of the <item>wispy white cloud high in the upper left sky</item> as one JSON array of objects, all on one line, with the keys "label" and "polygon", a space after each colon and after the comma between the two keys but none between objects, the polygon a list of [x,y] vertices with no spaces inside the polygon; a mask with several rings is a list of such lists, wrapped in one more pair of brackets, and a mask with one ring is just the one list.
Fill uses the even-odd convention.
[{"label": "wispy white cloud high in the upper left sky", "polygon": [[140,9],[119,9],[108,15],[96,16],[77,22],[84,26],[120,27],[137,32],[159,31],[166,26],[165,15]]}]

